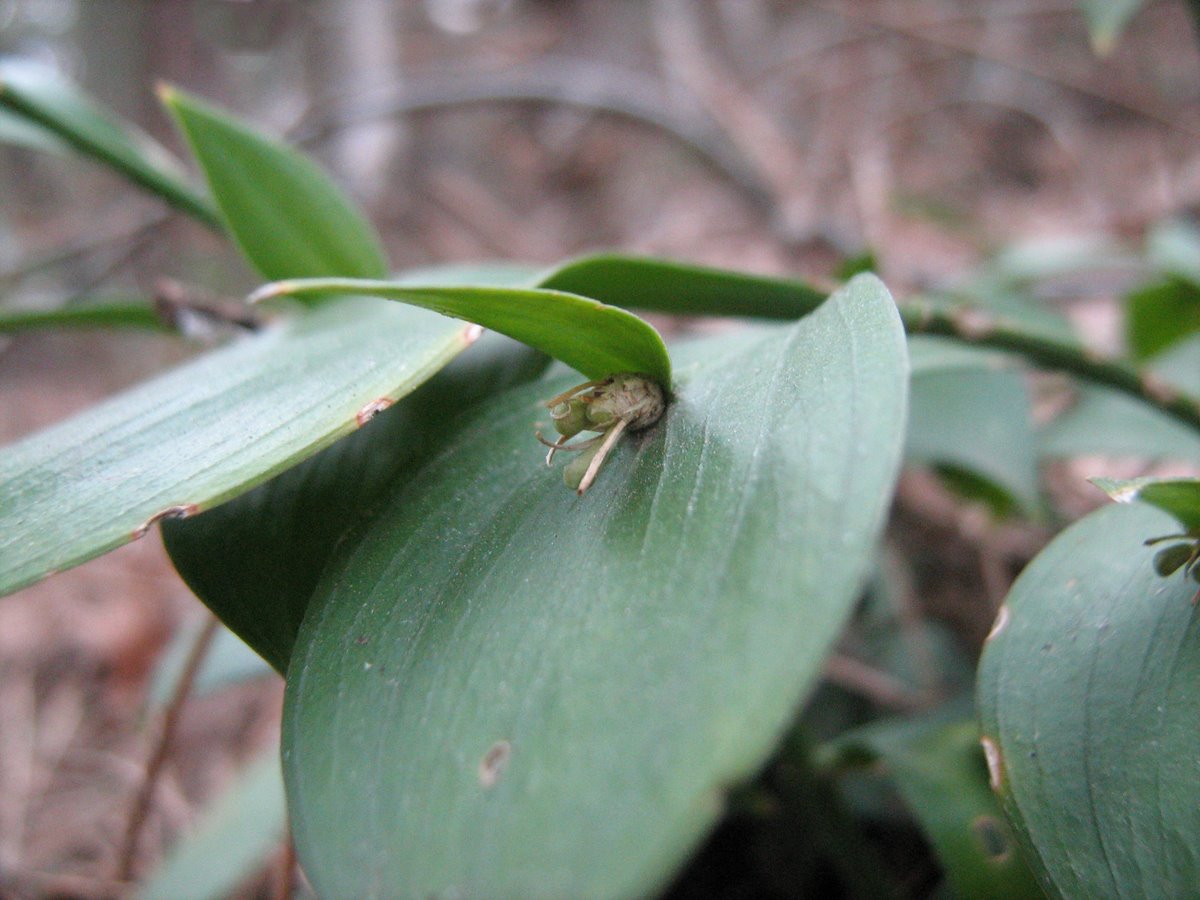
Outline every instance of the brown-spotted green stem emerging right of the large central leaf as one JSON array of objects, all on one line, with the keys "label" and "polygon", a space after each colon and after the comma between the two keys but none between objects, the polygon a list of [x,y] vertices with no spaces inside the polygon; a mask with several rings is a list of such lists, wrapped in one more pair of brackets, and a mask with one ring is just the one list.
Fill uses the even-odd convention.
[{"label": "brown-spotted green stem emerging right of the large central leaf", "polygon": [[898,307],[908,334],[940,335],[1019,354],[1044,368],[1068,372],[1135,397],[1200,432],[1200,400],[1146,370],[1099,356],[1069,340],[1036,334],[978,307],[948,306],[930,300],[911,300]]}]

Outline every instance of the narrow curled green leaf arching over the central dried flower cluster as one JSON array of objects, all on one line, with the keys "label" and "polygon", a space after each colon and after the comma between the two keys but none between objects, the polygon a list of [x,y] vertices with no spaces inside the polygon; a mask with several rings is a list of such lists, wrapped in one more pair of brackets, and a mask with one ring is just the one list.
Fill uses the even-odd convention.
[{"label": "narrow curled green leaf arching over the central dried flower cluster", "polygon": [[616,306],[562,290],[302,278],[268,284],[251,300],[330,294],[379,296],[467,319],[535,347],[588,378],[637,372],[671,386],[671,358],[658,331]]}]

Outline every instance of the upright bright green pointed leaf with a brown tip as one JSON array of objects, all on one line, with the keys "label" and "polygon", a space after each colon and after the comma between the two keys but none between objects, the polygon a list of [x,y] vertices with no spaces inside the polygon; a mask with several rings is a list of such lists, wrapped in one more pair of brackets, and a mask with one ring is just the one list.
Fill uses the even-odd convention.
[{"label": "upright bright green pointed leaf with a brown tip", "polygon": [[316,163],[175,88],[161,86],[160,96],[230,234],[263,276],[388,275],[371,223]]}]

